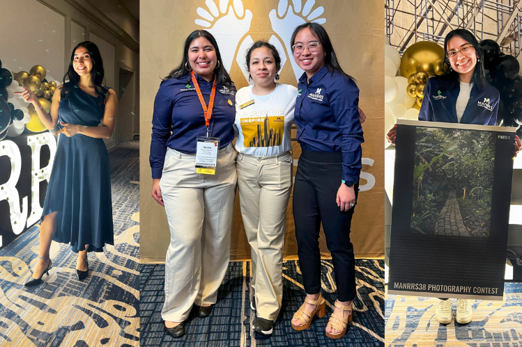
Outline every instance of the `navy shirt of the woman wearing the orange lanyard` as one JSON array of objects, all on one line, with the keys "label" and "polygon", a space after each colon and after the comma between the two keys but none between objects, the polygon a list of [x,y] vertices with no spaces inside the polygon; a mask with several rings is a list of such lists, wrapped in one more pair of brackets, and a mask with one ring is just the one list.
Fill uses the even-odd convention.
[{"label": "navy shirt of the woman wearing the orange lanyard", "polygon": [[[195,75],[206,105],[210,100],[212,81]],[[216,86],[214,108],[210,118],[210,136],[220,138],[220,149],[227,147],[234,138],[233,122],[236,118],[234,104],[236,87],[232,90]],[[190,74],[181,79],[162,81],[154,100],[152,118],[151,156],[152,178],[161,178],[167,147],[181,153],[195,154],[197,136],[206,136],[203,106],[199,102]]]}]

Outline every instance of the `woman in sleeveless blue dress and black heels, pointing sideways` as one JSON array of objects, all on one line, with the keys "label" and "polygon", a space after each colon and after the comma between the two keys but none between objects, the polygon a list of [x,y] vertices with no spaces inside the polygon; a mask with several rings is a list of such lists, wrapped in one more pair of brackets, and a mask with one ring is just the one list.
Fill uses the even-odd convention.
[{"label": "woman in sleeveless blue dress and black heels, pointing sideways", "polygon": [[[33,104],[40,121],[56,133],[58,147],[40,223],[38,262],[26,286],[49,275],[51,241],[70,243],[78,253],[76,275],[89,273],[87,252],[103,252],[114,243],[109,154],[103,138],[116,124],[116,93],[102,85],[103,62],[93,42],[81,42],[70,57],[63,84],[56,88],[47,113],[31,90],[21,94]],[[101,126],[98,126],[102,122]]]}]

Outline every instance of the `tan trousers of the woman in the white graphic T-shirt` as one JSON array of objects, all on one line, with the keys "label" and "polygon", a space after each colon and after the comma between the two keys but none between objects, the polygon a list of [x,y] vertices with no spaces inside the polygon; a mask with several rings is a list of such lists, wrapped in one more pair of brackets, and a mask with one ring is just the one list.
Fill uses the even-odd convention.
[{"label": "tan trousers of the woman in the white graphic T-shirt", "polygon": [[279,314],[283,296],[283,240],[292,165],[289,152],[268,157],[239,153],[236,161],[241,215],[252,248],[250,283],[256,316],[271,321]]}]

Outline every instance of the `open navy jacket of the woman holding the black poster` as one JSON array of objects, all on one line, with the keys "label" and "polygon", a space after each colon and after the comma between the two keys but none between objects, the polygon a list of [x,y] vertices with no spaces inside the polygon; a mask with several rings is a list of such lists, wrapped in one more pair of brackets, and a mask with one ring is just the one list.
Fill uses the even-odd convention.
[{"label": "open navy jacket of the woman holding the black poster", "polygon": [[[420,107],[419,120],[431,122],[457,123],[456,99],[459,97],[458,80],[450,81],[452,76],[433,76],[428,79],[424,88],[424,99]],[[448,89],[447,86],[450,86]],[[497,121],[500,93],[486,83],[479,90],[476,83],[471,88],[468,106],[461,118],[461,123],[495,125]]]}]

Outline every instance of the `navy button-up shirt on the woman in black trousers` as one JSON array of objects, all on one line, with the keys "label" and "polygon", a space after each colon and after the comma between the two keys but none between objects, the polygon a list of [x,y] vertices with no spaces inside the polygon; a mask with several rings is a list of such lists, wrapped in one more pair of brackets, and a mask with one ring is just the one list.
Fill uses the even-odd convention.
[{"label": "navy button-up shirt on the woman in black trousers", "polygon": [[358,183],[362,168],[361,143],[364,142],[359,121],[359,88],[351,79],[323,66],[307,83],[302,74],[295,102],[297,140],[303,150],[342,152],[343,173],[340,179]]}]

